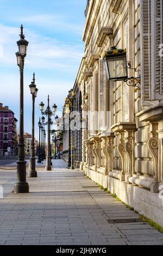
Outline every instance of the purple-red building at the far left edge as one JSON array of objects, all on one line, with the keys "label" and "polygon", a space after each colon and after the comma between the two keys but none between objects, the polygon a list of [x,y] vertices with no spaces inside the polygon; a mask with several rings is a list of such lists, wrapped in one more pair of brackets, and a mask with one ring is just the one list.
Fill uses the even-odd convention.
[{"label": "purple-red building at the far left edge", "polygon": [[14,112],[0,103],[0,157],[18,153],[16,123]]}]

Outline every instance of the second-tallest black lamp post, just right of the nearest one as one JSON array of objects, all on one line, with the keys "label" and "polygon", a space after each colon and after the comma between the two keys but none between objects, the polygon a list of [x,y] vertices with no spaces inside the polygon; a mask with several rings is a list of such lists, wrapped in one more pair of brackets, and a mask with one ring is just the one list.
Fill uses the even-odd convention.
[{"label": "second-tallest black lamp post, just right of the nearest one", "polygon": [[36,178],[37,177],[37,172],[35,170],[35,135],[34,135],[34,125],[35,125],[35,97],[37,96],[37,92],[38,89],[36,88],[36,84],[35,84],[35,74],[33,74],[33,81],[31,82],[31,84],[29,85],[30,88],[30,93],[32,94],[32,147],[31,147],[31,151],[30,151],[30,170],[28,172],[28,177],[29,178]]}]

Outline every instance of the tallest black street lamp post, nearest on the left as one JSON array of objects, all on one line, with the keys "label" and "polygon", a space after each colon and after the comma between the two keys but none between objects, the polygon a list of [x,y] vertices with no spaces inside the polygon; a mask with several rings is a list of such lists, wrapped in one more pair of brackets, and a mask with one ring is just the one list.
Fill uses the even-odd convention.
[{"label": "tallest black street lamp post, nearest on the left", "polygon": [[20,68],[20,137],[18,142],[17,182],[14,185],[15,193],[28,193],[29,185],[26,181],[26,161],[24,150],[24,92],[23,92],[23,70],[24,58],[27,55],[28,41],[24,39],[23,26],[21,25],[20,40],[17,41],[18,52],[16,53],[17,65]]}]

